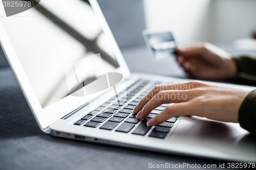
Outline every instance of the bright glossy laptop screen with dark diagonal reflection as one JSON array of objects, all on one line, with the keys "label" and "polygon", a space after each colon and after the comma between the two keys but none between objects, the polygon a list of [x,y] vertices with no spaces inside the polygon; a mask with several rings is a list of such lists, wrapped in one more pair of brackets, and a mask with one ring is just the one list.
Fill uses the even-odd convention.
[{"label": "bright glossy laptop screen with dark diagonal reflection", "polygon": [[40,1],[1,21],[42,108],[82,96],[77,90],[119,67],[86,0]]}]

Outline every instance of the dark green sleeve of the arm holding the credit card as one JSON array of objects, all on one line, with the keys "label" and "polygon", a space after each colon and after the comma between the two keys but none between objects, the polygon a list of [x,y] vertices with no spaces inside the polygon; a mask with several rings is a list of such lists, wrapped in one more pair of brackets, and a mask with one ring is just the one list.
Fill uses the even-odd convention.
[{"label": "dark green sleeve of the arm holding the credit card", "polygon": [[235,81],[256,85],[256,57],[233,57],[233,60],[238,68],[238,78]]}]

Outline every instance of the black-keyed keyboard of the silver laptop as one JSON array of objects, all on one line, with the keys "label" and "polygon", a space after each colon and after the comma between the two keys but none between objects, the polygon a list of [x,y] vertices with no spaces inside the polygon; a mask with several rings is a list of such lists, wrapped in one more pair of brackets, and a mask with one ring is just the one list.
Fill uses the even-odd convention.
[{"label": "black-keyed keyboard of the silver laptop", "polygon": [[[152,84],[151,87],[161,84],[161,82],[138,80],[133,85],[126,88],[127,98],[121,98],[118,100],[117,97],[114,96],[105,103],[102,103],[93,111],[89,112],[87,115],[84,115],[74,125],[91,128],[99,127],[99,129],[110,131],[117,127],[115,129],[117,133],[129,133],[132,131],[132,134],[142,136],[147,135],[148,131],[153,128],[148,136],[164,139],[170,131],[170,128],[172,128],[174,123],[177,121],[178,117],[172,117],[166,120],[166,122],[155,127],[148,127],[146,123],[152,117],[161,113],[169,104],[163,104],[157,107],[143,120],[136,119],[136,115],[131,114],[140,99],[151,90],[145,89],[146,85],[149,83]],[[124,92],[125,90],[122,93]],[[138,93],[140,93],[140,95],[137,95]]]}]

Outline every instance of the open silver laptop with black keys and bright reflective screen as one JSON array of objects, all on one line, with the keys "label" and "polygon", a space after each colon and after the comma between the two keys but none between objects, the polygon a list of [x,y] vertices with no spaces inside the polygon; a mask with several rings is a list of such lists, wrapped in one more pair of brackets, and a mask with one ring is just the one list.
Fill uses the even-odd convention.
[{"label": "open silver laptop with black keys and bright reflective screen", "polygon": [[153,87],[191,80],[131,73],[96,0],[42,0],[8,17],[0,8],[1,46],[43,132],[162,153],[256,161],[256,143],[239,124],[179,116],[146,126],[171,104],[143,120],[135,118],[133,108]]}]

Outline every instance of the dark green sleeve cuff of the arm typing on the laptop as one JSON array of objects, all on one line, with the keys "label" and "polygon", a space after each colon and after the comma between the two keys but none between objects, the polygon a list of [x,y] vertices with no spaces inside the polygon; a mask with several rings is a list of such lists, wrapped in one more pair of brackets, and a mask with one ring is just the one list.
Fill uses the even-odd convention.
[{"label": "dark green sleeve cuff of the arm typing on the laptop", "polygon": [[244,99],[239,109],[238,122],[242,128],[256,135],[256,89]]}]

